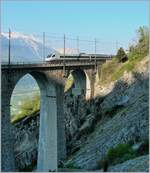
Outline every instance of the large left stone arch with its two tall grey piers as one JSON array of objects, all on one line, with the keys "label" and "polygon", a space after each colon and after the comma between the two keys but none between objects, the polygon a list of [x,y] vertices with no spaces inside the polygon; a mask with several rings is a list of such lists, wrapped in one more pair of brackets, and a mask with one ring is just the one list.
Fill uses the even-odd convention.
[{"label": "large left stone arch with its two tall grey piers", "polygon": [[[60,124],[60,128],[63,128],[61,125],[60,116],[63,114],[63,97],[61,87],[58,86],[53,80],[50,79],[48,73],[43,72],[22,72],[22,73],[15,73],[15,76],[12,74],[3,73],[2,74],[2,100],[5,102],[7,100],[7,105],[3,107],[3,117],[2,117],[2,169],[3,171],[14,171],[14,155],[12,149],[12,131],[11,131],[11,124],[10,124],[10,99],[15,88],[17,82],[26,74],[30,74],[34,77],[37,81],[40,93],[41,93],[41,100],[40,100],[40,131],[39,131],[39,146],[38,146],[38,162],[37,162],[37,171],[54,171],[57,170],[58,164],[58,149],[59,152],[63,156],[65,155],[65,142],[62,148],[58,148],[58,132],[60,131],[58,124]],[[9,80],[8,80],[9,79]],[[11,83],[11,87],[9,85]],[[8,92],[7,92],[8,91]],[[7,94],[6,94],[7,93]],[[58,97],[59,95],[59,97]],[[7,98],[6,98],[7,97]],[[5,98],[5,99],[4,99]],[[59,99],[58,99],[59,98]],[[58,105],[59,104],[59,105]],[[60,109],[62,109],[60,111]],[[63,116],[62,116],[63,118]],[[59,122],[58,122],[59,121]],[[61,122],[60,122],[61,121]],[[9,130],[6,130],[6,126],[8,125]],[[6,134],[6,131],[8,132]],[[63,131],[63,129],[61,129]],[[65,136],[64,136],[65,138]],[[5,146],[5,143],[8,145]],[[8,149],[10,147],[10,149]],[[8,150],[7,150],[8,149]],[[60,151],[61,150],[61,151]],[[7,153],[5,153],[7,152]],[[60,153],[59,153],[60,154]],[[10,156],[9,156],[10,155]],[[11,157],[11,158],[10,158]],[[8,160],[7,163],[5,163]]]}]

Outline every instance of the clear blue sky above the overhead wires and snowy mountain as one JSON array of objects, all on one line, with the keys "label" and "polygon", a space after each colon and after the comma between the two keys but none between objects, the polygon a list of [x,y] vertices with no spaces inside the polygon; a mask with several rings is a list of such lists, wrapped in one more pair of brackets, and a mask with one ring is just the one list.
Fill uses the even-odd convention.
[{"label": "clear blue sky above the overhead wires and snowy mountain", "polygon": [[139,26],[148,26],[148,0],[3,1],[2,31],[50,33],[116,42],[127,48]]}]

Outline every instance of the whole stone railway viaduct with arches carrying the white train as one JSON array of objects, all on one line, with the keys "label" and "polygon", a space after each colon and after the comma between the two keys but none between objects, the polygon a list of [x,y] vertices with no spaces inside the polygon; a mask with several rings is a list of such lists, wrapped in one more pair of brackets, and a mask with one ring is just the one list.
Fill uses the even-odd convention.
[{"label": "whole stone railway viaduct with arches carrying the white train", "polygon": [[10,100],[17,82],[26,74],[37,81],[40,93],[40,132],[37,171],[56,171],[59,160],[66,156],[65,124],[63,113],[64,84],[71,73],[74,94],[84,92],[86,98],[94,96],[95,70],[110,56],[96,61],[88,58],[58,60],[42,64],[2,65],[1,151],[2,171],[17,171],[14,161],[13,131],[10,122]]}]

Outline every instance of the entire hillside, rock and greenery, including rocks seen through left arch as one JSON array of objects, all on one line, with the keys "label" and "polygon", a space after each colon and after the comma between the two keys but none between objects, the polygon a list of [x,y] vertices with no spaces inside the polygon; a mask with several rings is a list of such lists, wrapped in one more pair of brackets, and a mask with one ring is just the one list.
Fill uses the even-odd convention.
[{"label": "entire hillside, rock and greenery, including rocks seen through left arch", "polygon": [[[65,93],[67,158],[59,164],[62,170],[148,171],[149,57],[145,40],[139,37],[126,62],[114,57],[99,67],[93,99]],[[36,169],[39,112],[14,125],[18,169]]]}]

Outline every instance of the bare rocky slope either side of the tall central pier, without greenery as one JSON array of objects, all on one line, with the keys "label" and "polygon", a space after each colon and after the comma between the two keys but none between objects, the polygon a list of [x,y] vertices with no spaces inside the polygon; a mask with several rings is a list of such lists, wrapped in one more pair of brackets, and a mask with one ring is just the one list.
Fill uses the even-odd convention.
[{"label": "bare rocky slope either side of the tall central pier, without greenery", "polygon": [[[136,145],[148,139],[148,57],[138,64],[134,73],[125,72],[110,85],[96,86],[93,100],[86,101],[84,96],[74,97],[68,92],[64,103],[68,155],[64,167],[98,169],[98,161],[110,148],[128,142]],[[15,153],[19,169],[36,164],[38,128],[38,116],[16,124]],[[130,165],[135,162],[143,163],[143,169],[138,166],[132,169]],[[142,156],[108,170],[148,170],[147,163],[148,157]]]}]

